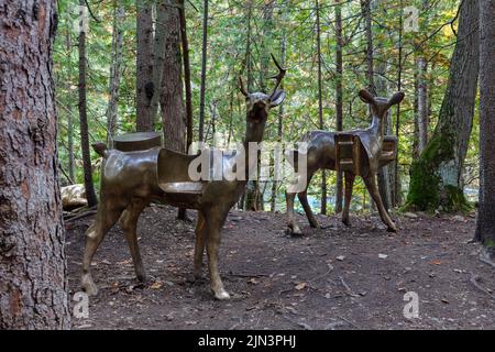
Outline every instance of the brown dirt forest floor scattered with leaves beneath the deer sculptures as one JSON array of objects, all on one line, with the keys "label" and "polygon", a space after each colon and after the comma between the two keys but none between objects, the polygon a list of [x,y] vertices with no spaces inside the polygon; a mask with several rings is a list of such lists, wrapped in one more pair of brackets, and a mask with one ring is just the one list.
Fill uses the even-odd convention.
[{"label": "brown dirt forest floor scattered with leaves beneath the deer sculptures", "polygon": [[[394,215],[399,232],[389,234],[375,216],[351,216],[351,228],[318,216],[316,230],[299,215],[305,235],[292,238],[284,213],[231,211],[220,249],[227,301],[209,279],[190,280],[194,223],[175,217],[166,206],[141,216],[144,285],[121,229],[109,232],[91,264],[100,293],[75,329],[495,329],[495,271],[470,241],[474,217]],[[67,223],[73,294],[91,221]],[[418,318],[404,317],[408,292]]]}]

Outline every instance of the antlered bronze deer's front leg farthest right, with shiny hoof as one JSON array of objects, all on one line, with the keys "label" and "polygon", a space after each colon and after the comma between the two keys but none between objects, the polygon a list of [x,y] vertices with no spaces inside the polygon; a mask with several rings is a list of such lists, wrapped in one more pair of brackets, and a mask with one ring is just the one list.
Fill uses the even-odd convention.
[{"label": "antlered bronze deer's front leg farthest right, with shiny hoof", "polygon": [[221,240],[221,229],[227,218],[227,211],[213,208],[205,213],[207,221],[206,249],[208,254],[208,268],[210,272],[210,285],[217,299],[229,299],[230,295],[223,288],[223,283],[218,270],[218,250]]}]

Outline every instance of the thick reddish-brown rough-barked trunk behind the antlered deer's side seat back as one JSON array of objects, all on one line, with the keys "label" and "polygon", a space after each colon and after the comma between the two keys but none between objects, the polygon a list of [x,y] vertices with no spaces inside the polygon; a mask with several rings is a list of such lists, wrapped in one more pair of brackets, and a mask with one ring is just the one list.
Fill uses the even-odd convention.
[{"label": "thick reddish-brown rough-barked trunk behind the antlered deer's side seat back", "polygon": [[182,58],[179,36],[179,11],[168,8],[164,18],[165,31],[164,67],[162,78],[162,122],[164,145],[174,151],[185,152],[186,119],[183,102]]}]

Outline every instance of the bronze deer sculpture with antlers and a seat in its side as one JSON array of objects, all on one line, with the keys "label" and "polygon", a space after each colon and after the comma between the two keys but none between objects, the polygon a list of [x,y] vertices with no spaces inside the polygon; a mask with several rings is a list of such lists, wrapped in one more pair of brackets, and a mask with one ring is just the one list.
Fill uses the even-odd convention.
[{"label": "bronze deer sculpture with antlers and a seat in its side", "polygon": [[[248,92],[242,79],[239,78],[240,90],[246,100],[244,150],[230,156],[220,156],[222,160],[219,164],[223,174],[234,172],[235,160],[246,162],[244,165],[255,163],[248,158],[249,154],[245,152],[248,145],[250,142],[262,142],[268,111],[282,103],[285,98],[285,92],[277,88],[286,70],[278,65],[275,57],[272,56],[272,58],[278,68],[278,75],[272,77],[276,78],[276,85],[271,95]],[[91,258],[106,233],[119,218],[119,223],[129,243],[136,277],[139,280],[145,280],[138,246],[138,219],[150,201],[161,200],[175,207],[198,210],[194,277],[201,276],[206,248],[211,290],[218,299],[230,298],[219,274],[218,250],[223,223],[230,209],[244,191],[246,180],[193,180],[189,176],[189,167],[198,155],[182,154],[161,147],[121,152],[107,150],[103,146],[102,144],[96,145],[96,150],[103,156],[103,164],[96,220],[86,231],[81,276],[81,284],[86,292],[90,295],[96,295],[98,292],[90,272]],[[218,155],[213,151],[209,151],[209,153],[213,157]],[[253,167],[248,169],[251,170]]]}]

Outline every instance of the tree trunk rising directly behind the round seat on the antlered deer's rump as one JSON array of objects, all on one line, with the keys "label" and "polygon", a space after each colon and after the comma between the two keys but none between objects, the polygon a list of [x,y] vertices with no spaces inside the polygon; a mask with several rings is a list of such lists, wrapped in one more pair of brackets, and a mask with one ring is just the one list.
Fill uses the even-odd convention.
[{"label": "tree trunk rising directly behind the round seat on the antlered deer's rump", "polygon": [[136,0],[136,131],[153,131],[153,1]]}]

